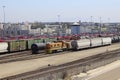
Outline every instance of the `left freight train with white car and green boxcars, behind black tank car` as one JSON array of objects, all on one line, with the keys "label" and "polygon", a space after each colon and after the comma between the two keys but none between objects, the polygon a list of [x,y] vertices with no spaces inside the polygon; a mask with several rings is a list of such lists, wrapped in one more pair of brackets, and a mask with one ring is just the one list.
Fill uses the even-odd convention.
[{"label": "left freight train with white car and green boxcars, behind black tank car", "polygon": [[0,42],[0,53],[11,53],[17,51],[30,50],[31,45],[34,43],[47,43],[56,40],[56,38],[6,40],[4,42]]}]

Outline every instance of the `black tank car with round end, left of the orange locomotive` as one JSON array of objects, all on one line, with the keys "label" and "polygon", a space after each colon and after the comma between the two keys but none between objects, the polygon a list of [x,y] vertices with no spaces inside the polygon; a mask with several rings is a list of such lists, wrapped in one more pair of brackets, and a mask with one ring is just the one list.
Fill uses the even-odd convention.
[{"label": "black tank car with round end, left of the orange locomotive", "polygon": [[46,43],[34,43],[31,45],[32,54],[39,53],[40,50],[44,50]]}]

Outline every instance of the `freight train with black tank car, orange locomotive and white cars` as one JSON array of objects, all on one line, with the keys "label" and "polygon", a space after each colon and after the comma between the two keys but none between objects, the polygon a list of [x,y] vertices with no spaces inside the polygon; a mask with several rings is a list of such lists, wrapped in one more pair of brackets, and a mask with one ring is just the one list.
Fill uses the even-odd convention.
[{"label": "freight train with black tank car, orange locomotive and white cars", "polygon": [[45,50],[46,53],[54,53],[59,50],[79,50],[93,48],[98,46],[110,45],[111,43],[120,42],[120,37],[99,37],[90,39],[80,39],[71,41],[57,41],[52,43],[35,43],[31,46],[32,53],[39,53],[39,50]]}]

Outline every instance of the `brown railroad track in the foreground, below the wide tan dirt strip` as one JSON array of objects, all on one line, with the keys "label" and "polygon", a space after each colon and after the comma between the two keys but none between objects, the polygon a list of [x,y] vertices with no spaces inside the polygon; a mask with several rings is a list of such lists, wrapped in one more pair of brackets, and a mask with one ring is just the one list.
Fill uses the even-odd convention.
[{"label": "brown railroad track in the foreground, below the wide tan dirt strip", "polygon": [[[70,70],[72,68],[79,67],[79,66],[90,65],[90,63],[95,63],[97,61],[104,61],[106,59],[115,58],[115,57],[120,58],[120,50],[111,51],[111,52],[105,53],[105,54],[98,54],[98,55],[90,56],[90,57],[80,59],[77,61],[73,61],[73,62],[70,62],[67,64],[61,64],[61,65],[56,65],[56,66],[48,65],[48,67],[43,68],[43,69],[38,69],[36,71],[31,71],[31,72],[26,72],[23,74],[18,74],[15,76],[6,77],[1,80],[34,80],[37,77],[39,77],[38,80],[41,80],[40,77],[48,77],[49,76],[48,78],[51,78],[50,76],[53,77],[52,74],[55,74],[58,72],[63,73],[62,77],[64,79],[66,77],[67,70]],[[37,79],[35,79],[35,80],[37,80]],[[49,80],[52,80],[52,78]]]}]

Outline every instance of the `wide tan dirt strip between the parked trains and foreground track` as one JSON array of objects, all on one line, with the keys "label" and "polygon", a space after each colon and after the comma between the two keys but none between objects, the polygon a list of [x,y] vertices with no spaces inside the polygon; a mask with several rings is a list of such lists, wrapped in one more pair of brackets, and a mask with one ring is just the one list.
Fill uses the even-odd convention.
[{"label": "wide tan dirt strip between the parked trains and foreground track", "polygon": [[120,43],[111,46],[70,52],[68,54],[0,64],[0,79],[48,67],[48,64],[56,66],[116,49],[120,49]]}]

